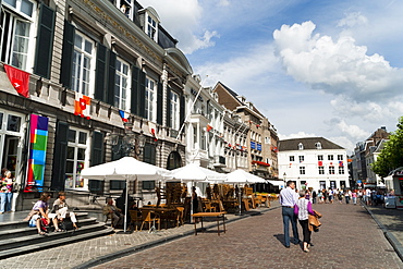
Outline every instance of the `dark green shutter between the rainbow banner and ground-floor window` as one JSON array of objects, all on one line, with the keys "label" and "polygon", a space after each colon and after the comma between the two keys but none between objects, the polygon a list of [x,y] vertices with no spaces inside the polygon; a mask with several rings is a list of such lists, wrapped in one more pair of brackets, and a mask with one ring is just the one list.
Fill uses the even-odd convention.
[{"label": "dark green shutter between the rainbow banner and ground-floor window", "polygon": [[52,191],[64,189],[65,160],[68,158],[68,134],[69,124],[65,122],[58,122],[53,149]]}]

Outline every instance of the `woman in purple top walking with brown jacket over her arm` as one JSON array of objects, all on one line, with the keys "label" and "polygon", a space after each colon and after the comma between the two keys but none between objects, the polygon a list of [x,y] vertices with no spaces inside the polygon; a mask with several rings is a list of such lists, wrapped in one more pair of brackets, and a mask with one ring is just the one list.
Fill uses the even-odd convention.
[{"label": "woman in purple top walking with brown jacket over her arm", "polygon": [[298,222],[303,229],[303,235],[304,235],[304,243],[303,243],[303,249],[304,252],[309,252],[310,246],[310,231],[309,231],[309,223],[308,223],[308,215],[315,216],[314,210],[312,209],[312,204],[308,199],[304,199],[305,192],[300,192],[300,198],[295,204],[294,207],[294,213],[298,218]]}]

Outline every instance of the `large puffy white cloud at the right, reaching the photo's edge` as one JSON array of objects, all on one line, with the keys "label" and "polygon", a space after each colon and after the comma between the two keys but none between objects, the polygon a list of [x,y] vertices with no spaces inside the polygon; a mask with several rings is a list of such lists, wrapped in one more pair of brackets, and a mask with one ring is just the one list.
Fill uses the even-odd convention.
[{"label": "large puffy white cloud at the right, reaching the photo's edge", "polygon": [[390,66],[379,54],[367,56],[351,36],[333,41],[314,35],[313,22],[282,25],[273,33],[286,73],[294,80],[357,102],[388,100],[402,95],[403,71]]}]

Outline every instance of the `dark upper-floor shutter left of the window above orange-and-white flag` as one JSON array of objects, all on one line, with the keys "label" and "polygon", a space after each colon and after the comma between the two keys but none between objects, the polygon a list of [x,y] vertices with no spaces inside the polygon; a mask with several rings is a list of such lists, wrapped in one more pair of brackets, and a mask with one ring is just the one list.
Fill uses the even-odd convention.
[{"label": "dark upper-floor shutter left of the window above orange-and-white flag", "polygon": [[64,21],[60,83],[64,87],[68,87],[68,88],[71,88],[71,85],[72,85],[74,35],[75,35],[75,27],[73,26],[73,24],[69,23],[68,21]]}]

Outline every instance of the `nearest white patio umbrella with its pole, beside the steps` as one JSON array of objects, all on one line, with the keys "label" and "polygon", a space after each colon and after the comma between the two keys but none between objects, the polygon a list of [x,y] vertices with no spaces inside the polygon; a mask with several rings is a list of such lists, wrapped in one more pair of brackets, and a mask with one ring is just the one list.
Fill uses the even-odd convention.
[{"label": "nearest white patio umbrella with its pole, beside the steps", "polygon": [[[162,180],[169,178],[170,172],[163,168],[159,168],[133,157],[123,157],[122,159],[98,164],[95,167],[83,169],[81,176],[90,180],[124,180],[126,182],[126,206],[125,216],[127,216],[127,182],[135,180]],[[124,232],[126,232],[127,220],[124,218]]]}]

